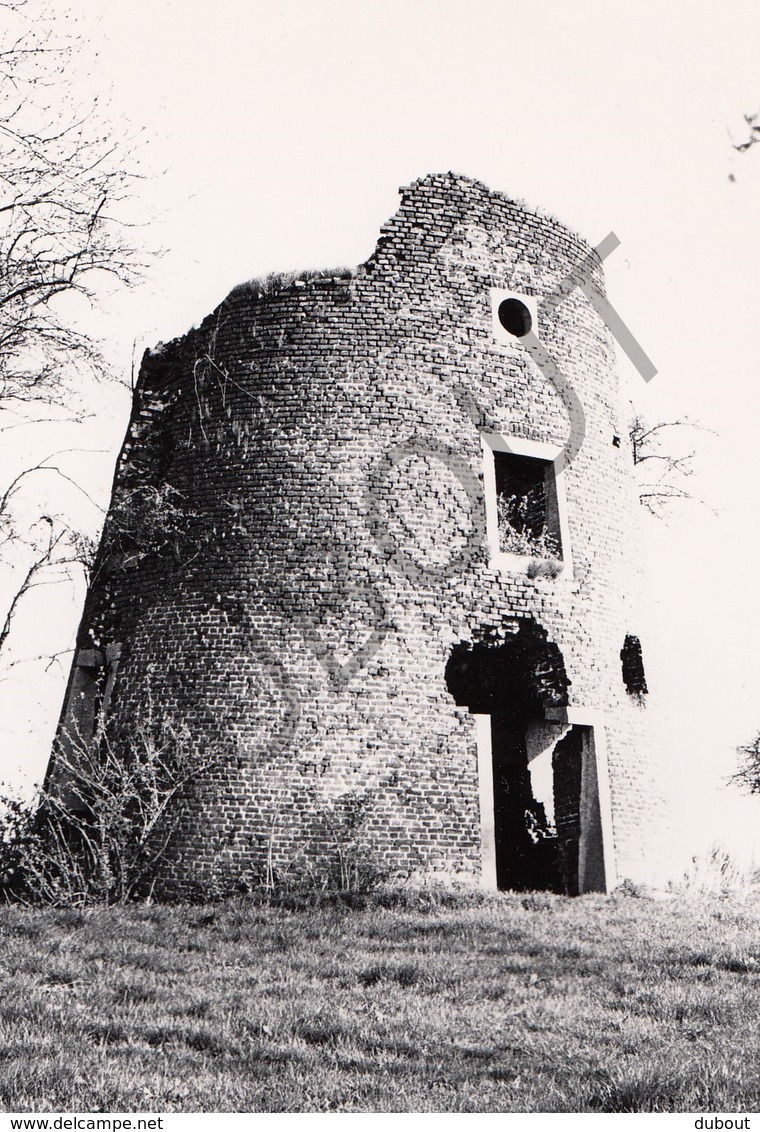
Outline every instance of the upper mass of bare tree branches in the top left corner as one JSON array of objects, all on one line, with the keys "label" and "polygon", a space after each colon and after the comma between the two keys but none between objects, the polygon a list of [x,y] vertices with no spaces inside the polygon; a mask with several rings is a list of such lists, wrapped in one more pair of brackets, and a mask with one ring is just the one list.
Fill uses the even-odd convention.
[{"label": "upper mass of bare tree branches in the top left corner", "polygon": [[49,403],[67,370],[99,367],[91,338],[61,305],[92,301],[99,278],[134,277],[136,255],[119,209],[134,174],[97,106],[75,104],[77,45],[54,38],[36,6],[0,7],[0,408]]}]

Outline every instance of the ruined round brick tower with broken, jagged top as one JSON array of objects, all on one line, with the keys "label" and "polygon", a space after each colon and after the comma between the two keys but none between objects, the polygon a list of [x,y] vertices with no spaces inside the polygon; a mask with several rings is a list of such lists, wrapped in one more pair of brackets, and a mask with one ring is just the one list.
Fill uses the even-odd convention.
[{"label": "ruined round brick tower with broken, jagged top", "polygon": [[[59,741],[219,752],[168,893],[647,877],[637,497],[598,257],[454,174],[146,353]],[[331,861],[333,865],[331,865]]]}]

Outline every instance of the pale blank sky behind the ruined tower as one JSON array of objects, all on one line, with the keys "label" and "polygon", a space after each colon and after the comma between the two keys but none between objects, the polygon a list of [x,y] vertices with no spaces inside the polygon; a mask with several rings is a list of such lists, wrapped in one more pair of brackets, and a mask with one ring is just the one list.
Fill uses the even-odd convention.
[{"label": "pale blank sky behind the ruined tower", "polygon": [[[659,370],[644,386],[621,359],[631,395],[652,418],[718,432],[698,438],[697,484],[718,514],[650,523],[641,550],[668,769],[699,835],[748,852],[760,800],[721,781],[732,747],[760,729],[760,146],[731,144],[760,110],[757,3],[78,0],[71,11],[88,42],[83,84],[108,89],[114,132],[138,138],[145,239],[164,249],[97,320],[125,374],[134,342],[183,333],[245,278],[366,259],[398,187],[427,172],[484,180],[592,243],[617,234],[609,295]],[[106,454],[88,466],[106,495],[128,398],[94,404],[92,446]],[[76,600],[54,599],[71,625]],[[8,774],[20,762],[39,774],[61,694],[54,671],[0,685]],[[48,734],[29,744],[41,700]]]}]

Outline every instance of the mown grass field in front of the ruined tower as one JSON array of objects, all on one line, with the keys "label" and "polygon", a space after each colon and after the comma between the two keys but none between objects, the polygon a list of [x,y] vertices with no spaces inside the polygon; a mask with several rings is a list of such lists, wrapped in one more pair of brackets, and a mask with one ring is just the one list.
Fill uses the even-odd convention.
[{"label": "mown grass field in front of the ruined tower", "polygon": [[0,909],[6,1112],[752,1112],[760,907]]}]

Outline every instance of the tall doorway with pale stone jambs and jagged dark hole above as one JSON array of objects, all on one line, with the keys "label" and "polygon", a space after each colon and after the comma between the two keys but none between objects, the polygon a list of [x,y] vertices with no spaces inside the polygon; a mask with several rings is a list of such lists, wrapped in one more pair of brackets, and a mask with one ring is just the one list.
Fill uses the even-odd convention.
[{"label": "tall doorway with pale stone jambs and jagged dark hole above", "polygon": [[476,715],[484,883],[577,895],[605,891],[594,728],[553,722],[569,680],[532,619],[458,645],[454,700]]}]

